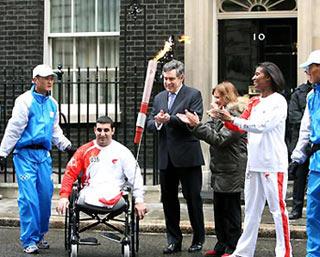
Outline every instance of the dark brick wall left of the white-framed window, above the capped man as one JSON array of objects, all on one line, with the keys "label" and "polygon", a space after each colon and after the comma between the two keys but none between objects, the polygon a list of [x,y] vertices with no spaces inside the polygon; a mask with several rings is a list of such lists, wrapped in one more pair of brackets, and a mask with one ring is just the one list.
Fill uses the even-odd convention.
[{"label": "dark brick wall left of the white-framed window, above the capped man", "polygon": [[[21,93],[26,85],[30,85],[32,68],[43,62],[43,23],[43,0],[0,1],[2,118],[11,114],[13,95]],[[4,105],[8,107],[6,113],[3,112]],[[0,126],[3,126],[3,122]]]}]

